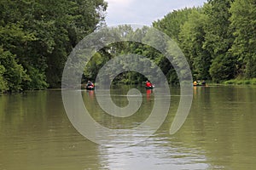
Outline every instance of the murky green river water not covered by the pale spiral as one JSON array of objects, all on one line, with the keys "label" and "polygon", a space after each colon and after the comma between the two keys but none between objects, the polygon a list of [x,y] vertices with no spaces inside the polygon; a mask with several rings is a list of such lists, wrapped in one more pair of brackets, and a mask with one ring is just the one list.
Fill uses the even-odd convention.
[{"label": "murky green river water not covered by the pale spiral", "polygon": [[[143,105],[135,115],[113,118],[99,108],[93,92],[81,93],[91,116],[109,128],[137,126],[154,105],[154,91],[143,89]],[[112,93],[117,105],[127,105],[125,88]],[[160,129],[127,147],[94,144],[80,135],[67,118],[60,90],[2,95],[0,170],[256,168],[255,87],[195,88],[186,122],[170,135],[178,94],[172,88],[171,110]]]}]

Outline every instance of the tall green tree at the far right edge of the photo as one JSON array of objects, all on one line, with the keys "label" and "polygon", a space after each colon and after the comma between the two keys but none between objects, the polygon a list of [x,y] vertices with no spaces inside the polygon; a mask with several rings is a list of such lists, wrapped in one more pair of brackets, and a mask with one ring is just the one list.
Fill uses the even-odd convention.
[{"label": "tall green tree at the far right edge of the photo", "polygon": [[238,59],[241,77],[256,77],[256,3],[253,0],[236,0],[231,4],[231,27],[236,37],[231,53]]}]

